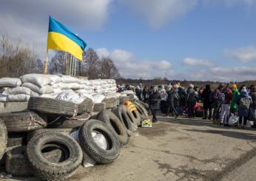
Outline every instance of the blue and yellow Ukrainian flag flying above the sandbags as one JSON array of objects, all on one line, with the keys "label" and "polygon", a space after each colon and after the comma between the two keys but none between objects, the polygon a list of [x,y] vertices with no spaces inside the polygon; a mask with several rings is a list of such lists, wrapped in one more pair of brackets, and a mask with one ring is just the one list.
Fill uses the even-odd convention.
[{"label": "blue and yellow Ukrainian flag flying above the sandbags", "polygon": [[70,52],[75,58],[83,61],[82,54],[87,44],[70,29],[50,16],[47,38],[47,49]]}]

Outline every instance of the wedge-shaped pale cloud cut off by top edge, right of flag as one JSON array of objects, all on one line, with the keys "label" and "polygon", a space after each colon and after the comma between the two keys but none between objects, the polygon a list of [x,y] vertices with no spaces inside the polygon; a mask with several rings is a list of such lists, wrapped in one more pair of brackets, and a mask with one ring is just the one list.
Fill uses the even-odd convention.
[{"label": "wedge-shaped pale cloud cut off by top edge, right of flag", "polygon": [[179,18],[197,4],[198,0],[119,0],[135,10],[153,28]]}]

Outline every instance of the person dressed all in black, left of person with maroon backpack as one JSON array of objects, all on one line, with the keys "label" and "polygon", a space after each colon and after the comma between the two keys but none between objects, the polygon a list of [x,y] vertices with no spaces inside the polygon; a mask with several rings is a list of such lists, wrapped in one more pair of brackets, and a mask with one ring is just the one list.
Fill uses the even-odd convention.
[{"label": "person dressed all in black, left of person with maroon backpack", "polygon": [[203,100],[203,110],[204,110],[204,117],[203,119],[206,120],[207,119],[207,115],[208,115],[208,119],[211,120],[212,117],[212,100],[211,100],[211,96],[212,96],[212,90],[210,85],[206,85],[206,88],[203,90],[201,98]]}]

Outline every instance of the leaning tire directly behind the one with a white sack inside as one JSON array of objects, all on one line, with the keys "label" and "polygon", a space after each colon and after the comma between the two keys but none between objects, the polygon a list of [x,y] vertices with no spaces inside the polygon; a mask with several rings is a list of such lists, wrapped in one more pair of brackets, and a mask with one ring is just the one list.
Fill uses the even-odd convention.
[{"label": "leaning tire directly behind the one with a white sack inside", "polygon": [[115,132],[115,135],[118,137],[121,145],[126,145],[129,142],[129,137],[124,125],[110,110],[106,109],[100,112],[97,115],[97,120],[101,120],[103,123],[106,123],[107,126]]}]

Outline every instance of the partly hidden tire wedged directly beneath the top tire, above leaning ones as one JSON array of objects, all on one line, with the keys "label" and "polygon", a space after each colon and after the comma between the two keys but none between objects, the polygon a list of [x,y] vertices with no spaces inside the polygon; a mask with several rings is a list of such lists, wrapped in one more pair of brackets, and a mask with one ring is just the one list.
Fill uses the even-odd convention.
[{"label": "partly hidden tire wedged directly beneath the top tire, above leaning ones", "polygon": [[[59,117],[59,118],[58,118]],[[47,128],[51,129],[75,129],[83,125],[85,121],[89,119],[90,115],[84,113],[74,118],[64,117],[58,115],[48,115],[47,117]]]}]

